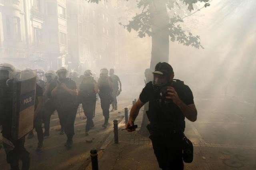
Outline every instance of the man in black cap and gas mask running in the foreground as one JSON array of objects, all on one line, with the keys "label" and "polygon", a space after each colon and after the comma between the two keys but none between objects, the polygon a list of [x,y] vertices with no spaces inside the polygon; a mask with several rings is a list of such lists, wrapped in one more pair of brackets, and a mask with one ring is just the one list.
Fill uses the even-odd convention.
[{"label": "man in black cap and gas mask running in the foreground", "polygon": [[[158,63],[153,75],[154,80],[146,84],[132,106],[126,128],[134,125],[140,108],[149,102],[146,113],[150,124],[147,128],[159,167],[163,170],[183,170],[184,118],[192,122],[197,118],[192,91],[183,81],[173,79],[174,72],[168,63]],[[129,132],[134,130],[128,129]]]}]

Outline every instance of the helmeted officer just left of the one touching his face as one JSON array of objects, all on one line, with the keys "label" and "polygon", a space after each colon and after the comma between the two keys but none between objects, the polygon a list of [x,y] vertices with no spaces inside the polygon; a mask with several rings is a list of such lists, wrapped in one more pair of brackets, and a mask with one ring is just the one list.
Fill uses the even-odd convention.
[{"label": "helmeted officer just left of the one touching his face", "polygon": [[44,91],[45,103],[44,103],[44,136],[50,136],[50,119],[54,111],[56,110],[55,101],[52,97],[52,90],[56,87],[56,73],[52,70],[48,70],[45,73],[46,78],[46,88]]}]

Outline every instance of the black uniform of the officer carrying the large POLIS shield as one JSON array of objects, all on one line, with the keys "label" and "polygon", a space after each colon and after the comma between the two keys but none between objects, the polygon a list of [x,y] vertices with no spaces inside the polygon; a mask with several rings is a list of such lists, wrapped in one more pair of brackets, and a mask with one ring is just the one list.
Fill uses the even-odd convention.
[{"label": "black uniform of the officer carrying the large POLIS shield", "polygon": [[[12,84],[6,86],[6,80],[0,81],[0,124],[2,124],[3,144],[6,152],[6,160],[12,170],[19,169],[19,160],[22,161],[22,170],[28,170],[30,166],[29,152],[25,149],[25,136],[14,140],[11,135],[12,120]],[[4,140],[4,138],[6,140]]]}]

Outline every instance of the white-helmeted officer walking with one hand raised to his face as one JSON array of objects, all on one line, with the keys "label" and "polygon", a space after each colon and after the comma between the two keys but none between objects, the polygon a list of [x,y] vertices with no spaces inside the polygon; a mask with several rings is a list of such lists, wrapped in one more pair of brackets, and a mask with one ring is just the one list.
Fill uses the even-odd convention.
[{"label": "white-helmeted officer walking with one hand raised to his face", "polygon": [[68,71],[65,67],[57,70],[59,80],[51,94],[56,98],[56,109],[59,113],[60,123],[67,135],[65,146],[70,149],[73,144],[74,122],[78,109],[76,83],[67,77]]}]

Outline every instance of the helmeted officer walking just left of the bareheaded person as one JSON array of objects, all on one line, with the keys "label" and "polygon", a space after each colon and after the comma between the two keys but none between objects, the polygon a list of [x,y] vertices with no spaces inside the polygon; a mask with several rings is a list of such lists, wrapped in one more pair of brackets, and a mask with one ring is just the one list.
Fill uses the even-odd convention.
[{"label": "helmeted officer walking just left of the bareheaded person", "polygon": [[108,77],[108,69],[103,68],[100,70],[100,78],[98,79],[98,88],[100,96],[100,106],[104,116],[104,124],[102,127],[106,128],[109,119],[109,108],[112,102],[113,85],[112,80]]}]

